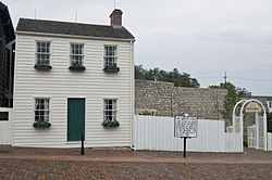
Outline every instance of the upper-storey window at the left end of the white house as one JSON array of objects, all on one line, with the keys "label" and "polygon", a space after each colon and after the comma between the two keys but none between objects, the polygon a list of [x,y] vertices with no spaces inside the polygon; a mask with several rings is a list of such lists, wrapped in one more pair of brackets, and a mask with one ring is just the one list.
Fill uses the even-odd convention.
[{"label": "upper-storey window at the left end of the white house", "polygon": [[50,65],[50,42],[37,42],[36,64]]}]

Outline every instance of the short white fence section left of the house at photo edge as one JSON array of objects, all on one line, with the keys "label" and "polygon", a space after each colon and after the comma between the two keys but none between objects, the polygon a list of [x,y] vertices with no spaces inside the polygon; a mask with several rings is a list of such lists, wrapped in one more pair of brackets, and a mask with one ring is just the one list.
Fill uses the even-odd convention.
[{"label": "short white fence section left of the house at photo edge", "polygon": [[0,119],[0,145],[12,145],[13,142],[13,110],[0,107],[1,113],[8,113],[8,119]]}]

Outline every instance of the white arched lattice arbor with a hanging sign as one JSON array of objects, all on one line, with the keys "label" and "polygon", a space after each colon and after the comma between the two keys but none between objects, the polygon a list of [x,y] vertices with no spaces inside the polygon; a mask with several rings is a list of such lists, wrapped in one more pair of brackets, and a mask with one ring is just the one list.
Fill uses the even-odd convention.
[{"label": "white arched lattice arbor with a hanging sign", "polygon": [[[248,105],[248,103],[250,102],[256,102],[259,104],[259,106],[262,108],[263,116],[259,116],[258,113],[256,113],[256,125],[248,127],[249,147],[256,147],[267,151],[268,150],[267,113],[265,113],[265,107],[259,100],[256,99],[240,100],[235,104],[233,110],[233,125],[231,128],[228,127],[228,131],[230,129],[232,129],[233,132],[240,132],[242,136],[240,139],[243,143],[243,138],[244,138],[243,113],[246,105]],[[242,104],[242,108],[239,111],[238,116],[236,116],[236,108],[238,107],[239,104]]]}]

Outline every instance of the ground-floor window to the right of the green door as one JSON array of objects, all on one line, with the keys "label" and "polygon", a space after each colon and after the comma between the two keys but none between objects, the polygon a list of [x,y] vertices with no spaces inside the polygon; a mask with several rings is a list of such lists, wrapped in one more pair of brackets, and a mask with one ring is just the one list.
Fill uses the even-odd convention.
[{"label": "ground-floor window to the right of the green door", "polygon": [[104,100],[103,120],[116,120],[116,100]]}]

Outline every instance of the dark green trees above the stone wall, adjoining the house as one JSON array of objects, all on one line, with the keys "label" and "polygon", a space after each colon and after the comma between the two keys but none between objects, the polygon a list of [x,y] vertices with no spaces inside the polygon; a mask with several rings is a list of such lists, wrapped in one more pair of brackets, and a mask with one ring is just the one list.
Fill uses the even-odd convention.
[{"label": "dark green trees above the stone wall, adjoining the house", "polygon": [[181,74],[177,68],[174,68],[172,72],[159,68],[150,68],[148,70],[143,65],[135,65],[135,79],[173,82],[175,87],[198,88],[200,86],[196,78],[191,78],[187,73]]}]

